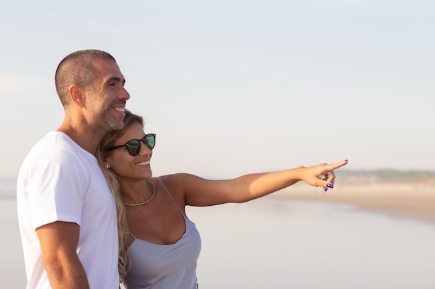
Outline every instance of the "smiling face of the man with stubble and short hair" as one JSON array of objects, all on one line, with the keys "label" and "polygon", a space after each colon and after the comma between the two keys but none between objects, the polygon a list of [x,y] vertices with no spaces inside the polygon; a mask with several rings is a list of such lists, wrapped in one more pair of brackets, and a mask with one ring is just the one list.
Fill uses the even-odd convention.
[{"label": "smiling face of the man with stubble and short hair", "polygon": [[91,89],[86,89],[85,118],[97,130],[106,133],[123,128],[124,108],[130,94],[125,78],[112,60],[95,60],[98,74]]}]

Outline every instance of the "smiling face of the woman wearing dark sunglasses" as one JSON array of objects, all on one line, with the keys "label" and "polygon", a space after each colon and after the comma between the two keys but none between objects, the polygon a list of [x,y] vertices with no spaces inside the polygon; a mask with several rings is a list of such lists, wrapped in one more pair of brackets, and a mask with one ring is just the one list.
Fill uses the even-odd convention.
[{"label": "smiling face of the woman wearing dark sunglasses", "polygon": [[[145,132],[140,123],[134,122],[129,125],[122,137],[115,141],[113,146],[120,146],[131,141],[131,139],[143,139]],[[112,150],[106,162],[110,169],[120,177],[122,181],[131,179],[149,179],[152,176],[151,172],[151,155],[153,151],[140,141],[140,152],[136,156],[132,156],[127,151],[126,147]]]}]

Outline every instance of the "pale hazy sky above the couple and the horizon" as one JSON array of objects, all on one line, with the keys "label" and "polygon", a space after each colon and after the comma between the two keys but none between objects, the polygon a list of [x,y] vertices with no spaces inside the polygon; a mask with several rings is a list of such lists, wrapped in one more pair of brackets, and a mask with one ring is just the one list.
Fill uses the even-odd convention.
[{"label": "pale hazy sky above the couple and the horizon", "polygon": [[435,1],[2,1],[0,176],[56,130],[67,54],[112,54],[154,175],[349,159],[435,170]]}]

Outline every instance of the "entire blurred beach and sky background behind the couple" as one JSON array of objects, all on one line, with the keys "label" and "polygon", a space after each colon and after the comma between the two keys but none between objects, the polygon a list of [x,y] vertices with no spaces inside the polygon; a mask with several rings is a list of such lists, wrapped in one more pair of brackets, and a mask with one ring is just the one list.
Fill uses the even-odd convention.
[{"label": "entire blurred beach and sky background behind the couple", "polygon": [[434,288],[434,28],[429,0],[1,1],[0,287],[26,283],[15,181],[63,120],[56,67],[101,49],[156,176],[350,160],[327,194],[191,208],[202,286]]}]

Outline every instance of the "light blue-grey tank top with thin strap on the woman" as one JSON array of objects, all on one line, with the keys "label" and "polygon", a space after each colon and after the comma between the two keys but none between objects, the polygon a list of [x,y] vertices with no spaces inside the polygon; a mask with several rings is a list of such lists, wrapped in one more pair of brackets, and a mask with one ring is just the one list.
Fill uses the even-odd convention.
[{"label": "light blue-grey tank top with thin strap on the woman", "polygon": [[128,289],[197,289],[197,260],[201,251],[201,237],[195,223],[184,216],[171,193],[157,178],[186,222],[186,231],[177,243],[158,245],[133,238],[127,249],[131,266],[125,283]]}]

